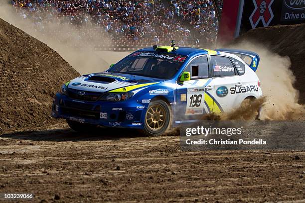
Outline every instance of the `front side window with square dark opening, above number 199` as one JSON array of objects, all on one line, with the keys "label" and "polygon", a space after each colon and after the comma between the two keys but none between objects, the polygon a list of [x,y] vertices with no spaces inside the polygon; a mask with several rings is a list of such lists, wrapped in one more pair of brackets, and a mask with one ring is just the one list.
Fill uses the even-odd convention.
[{"label": "front side window with square dark opening, above number 199", "polygon": [[199,56],[193,59],[184,71],[190,72],[191,80],[209,78],[209,65],[207,56]]}]

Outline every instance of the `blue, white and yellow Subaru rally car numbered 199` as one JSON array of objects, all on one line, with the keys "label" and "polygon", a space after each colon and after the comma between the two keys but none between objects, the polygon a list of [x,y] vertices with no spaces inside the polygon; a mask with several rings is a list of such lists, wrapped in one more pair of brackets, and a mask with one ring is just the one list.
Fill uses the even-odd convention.
[{"label": "blue, white and yellow Subaru rally car numbered 199", "polygon": [[[247,60],[246,60],[247,59]],[[76,131],[97,126],[160,135],[204,114],[229,111],[262,95],[254,52],[153,46],[101,73],[65,83],[52,116]]]}]

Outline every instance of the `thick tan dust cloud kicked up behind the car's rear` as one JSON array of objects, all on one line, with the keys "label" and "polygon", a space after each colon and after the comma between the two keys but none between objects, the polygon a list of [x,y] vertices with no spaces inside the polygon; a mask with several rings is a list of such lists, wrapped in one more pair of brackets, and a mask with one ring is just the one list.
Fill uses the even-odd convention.
[{"label": "thick tan dust cloud kicked up behind the car's rear", "polygon": [[[268,50],[268,48],[256,42],[242,41],[231,45],[230,48],[245,49],[258,53],[261,61],[257,75],[261,81],[264,99],[256,103],[248,103],[249,111],[262,106],[261,119],[263,120],[287,120],[293,119],[293,114],[304,110],[298,103],[299,92],[293,87],[295,76],[290,70],[291,61],[288,56],[280,56]],[[259,104],[259,105],[258,105]],[[247,113],[240,108],[226,115],[232,119],[238,113]],[[229,117],[227,117],[229,116]]]}]

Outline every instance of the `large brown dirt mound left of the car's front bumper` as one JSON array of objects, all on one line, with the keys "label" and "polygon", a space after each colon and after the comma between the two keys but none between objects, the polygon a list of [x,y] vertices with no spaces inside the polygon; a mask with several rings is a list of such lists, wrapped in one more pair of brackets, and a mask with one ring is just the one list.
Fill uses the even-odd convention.
[{"label": "large brown dirt mound left of the car's front bumper", "polygon": [[77,76],[54,50],[0,19],[0,134],[58,122],[52,98]]}]

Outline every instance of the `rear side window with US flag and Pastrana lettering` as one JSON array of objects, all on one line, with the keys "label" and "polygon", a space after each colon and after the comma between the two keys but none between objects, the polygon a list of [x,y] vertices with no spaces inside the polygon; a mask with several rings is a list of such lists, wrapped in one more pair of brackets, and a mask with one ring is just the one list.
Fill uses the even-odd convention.
[{"label": "rear side window with US flag and Pastrana lettering", "polygon": [[228,57],[211,56],[214,77],[235,76],[235,69]]}]

